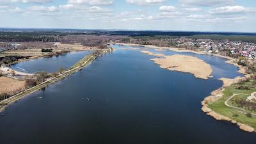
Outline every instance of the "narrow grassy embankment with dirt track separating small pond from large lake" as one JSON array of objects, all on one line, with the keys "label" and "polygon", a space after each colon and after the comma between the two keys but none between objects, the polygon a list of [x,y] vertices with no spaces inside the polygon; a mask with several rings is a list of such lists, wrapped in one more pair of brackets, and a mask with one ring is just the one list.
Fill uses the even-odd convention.
[{"label": "narrow grassy embankment with dirt track separating small pond from large lake", "polygon": [[6,106],[8,106],[9,104],[12,104],[12,102],[22,99],[23,97],[26,97],[30,93],[41,90],[42,88],[45,88],[45,86],[55,83],[56,81],[59,81],[60,79],[63,79],[65,77],[69,76],[70,74],[73,74],[74,72],[77,72],[78,70],[81,70],[82,68],[90,65],[90,63],[92,63],[98,56],[100,56],[101,54],[108,53],[108,52],[111,52],[111,49],[108,49],[106,51],[94,52],[93,54],[90,54],[90,56],[84,56],[84,58],[82,60],[80,60],[80,62],[77,62],[77,63],[79,63],[79,65],[77,65],[77,63],[76,63],[74,65],[74,67],[62,72],[61,74],[58,74],[58,76],[52,77],[52,78],[48,79],[47,81],[44,81],[43,83],[33,86],[32,88],[24,90],[20,93],[17,93],[16,95],[13,95],[9,99],[1,101],[0,102],[0,113],[6,108]]}]

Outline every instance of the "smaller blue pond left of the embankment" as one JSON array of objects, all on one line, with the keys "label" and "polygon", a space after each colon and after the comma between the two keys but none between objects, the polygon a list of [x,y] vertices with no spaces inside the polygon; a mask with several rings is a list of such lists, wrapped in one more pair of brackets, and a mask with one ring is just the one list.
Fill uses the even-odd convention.
[{"label": "smaller blue pond left of the embankment", "polygon": [[77,61],[81,60],[86,54],[90,54],[90,51],[68,52],[67,54],[61,54],[59,56],[52,56],[49,58],[38,58],[36,60],[22,61],[11,68],[22,71],[23,68],[28,73],[35,73],[40,71],[56,72],[58,68],[70,68]]}]

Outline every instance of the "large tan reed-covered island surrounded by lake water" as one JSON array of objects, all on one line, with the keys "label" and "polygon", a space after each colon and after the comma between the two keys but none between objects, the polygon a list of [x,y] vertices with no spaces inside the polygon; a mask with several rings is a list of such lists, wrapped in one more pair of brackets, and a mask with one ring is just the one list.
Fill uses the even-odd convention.
[{"label": "large tan reed-covered island surrounded by lake water", "polygon": [[209,64],[193,56],[176,54],[151,60],[160,65],[161,68],[179,72],[188,72],[201,79],[208,79],[212,74],[212,68]]}]

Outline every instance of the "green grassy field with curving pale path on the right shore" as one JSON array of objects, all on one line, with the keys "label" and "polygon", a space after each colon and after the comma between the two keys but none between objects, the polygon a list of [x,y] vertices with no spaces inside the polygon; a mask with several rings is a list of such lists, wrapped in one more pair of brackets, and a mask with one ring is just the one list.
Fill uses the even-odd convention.
[{"label": "green grassy field with curving pale path on the right shore", "polygon": [[[246,106],[240,106],[239,104],[236,103],[236,100],[246,100],[247,97],[251,95],[251,93],[256,92],[256,87],[253,85],[254,85],[253,81],[248,81],[248,82],[239,83],[239,84],[232,84],[231,86],[228,86],[227,88],[225,88],[223,92],[223,97],[218,99],[216,102],[210,103],[208,107],[211,108],[216,113],[219,113],[220,115],[227,116],[232,120],[236,120],[237,122],[240,122],[242,124],[250,125],[254,129],[256,129],[256,117],[252,115],[252,113],[256,113],[256,111],[253,111],[252,109],[247,108]],[[241,86],[243,86],[244,90],[241,90]],[[235,93],[241,93],[241,94],[237,94],[232,99],[228,100],[228,98],[230,98]],[[226,106],[225,105],[226,100],[228,100],[227,104],[229,104],[230,106],[244,109],[244,111],[247,111],[247,113],[241,113],[241,110],[239,109],[230,108]]]}]

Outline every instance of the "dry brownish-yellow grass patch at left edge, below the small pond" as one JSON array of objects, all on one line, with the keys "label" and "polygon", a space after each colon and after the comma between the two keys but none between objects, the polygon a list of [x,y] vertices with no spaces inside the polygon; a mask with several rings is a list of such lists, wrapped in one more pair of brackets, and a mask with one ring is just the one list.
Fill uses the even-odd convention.
[{"label": "dry brownish-yellow grass patch at left edge, below the small pond", "polygon": [[19,81],[10,77],[0,77],[0,93],[13,95],[25,89],[25,81]]}]

